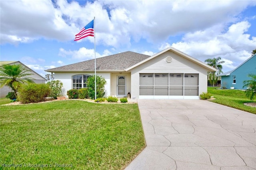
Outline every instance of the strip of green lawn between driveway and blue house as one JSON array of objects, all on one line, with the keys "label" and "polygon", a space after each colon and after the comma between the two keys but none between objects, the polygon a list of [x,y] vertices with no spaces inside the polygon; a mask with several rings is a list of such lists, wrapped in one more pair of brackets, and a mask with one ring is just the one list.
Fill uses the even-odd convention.
[{"label": "strip of green lawn between driveway and blue house", "polygon": [[216,87],[208,87],[208,92],[216,98],[216,100],[211,100],[211,102],[256,114],[256,107],[244,105],[244,103],[252,101],[246,98],[245,92],[242,90],[218,90]]}]

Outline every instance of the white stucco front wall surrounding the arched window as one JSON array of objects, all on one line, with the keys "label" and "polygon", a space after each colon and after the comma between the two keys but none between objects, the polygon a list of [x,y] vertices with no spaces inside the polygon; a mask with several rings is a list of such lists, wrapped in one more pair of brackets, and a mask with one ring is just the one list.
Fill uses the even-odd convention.
[{"label": "white stucco front wall surrounding the arched window", "polygon": [[[94,75],[94,72],[56,72],[54,73],[54,80],[60,80],[63,83],[63,92],[67,97],[67,91],[72,89],[72,76],[77,74],[88,74],[88,75]],[[96,72],[96,75],[102,76],[106,80],[105,85],[105,96],[110,96],[110,74],[111,73],[105,73],[105,72]]]}]

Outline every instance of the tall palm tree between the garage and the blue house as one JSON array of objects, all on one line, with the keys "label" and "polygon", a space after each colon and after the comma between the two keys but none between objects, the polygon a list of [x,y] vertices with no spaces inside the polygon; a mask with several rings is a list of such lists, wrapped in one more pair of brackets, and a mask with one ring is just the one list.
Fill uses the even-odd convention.
[{"label": "tall palm tree between the garage and the blue house", "polygon": [[[206,59],[206,62],[209,66],[212,66],[217,69],[217,74],[222,73],[222,65],[225,61],[220,61],[221,57],[213,58],[213,59]],[[210,72],[209,76],[210,83],[214,86],[214,84],[218,81],[218,77],[216,76],[216,71]]]}]

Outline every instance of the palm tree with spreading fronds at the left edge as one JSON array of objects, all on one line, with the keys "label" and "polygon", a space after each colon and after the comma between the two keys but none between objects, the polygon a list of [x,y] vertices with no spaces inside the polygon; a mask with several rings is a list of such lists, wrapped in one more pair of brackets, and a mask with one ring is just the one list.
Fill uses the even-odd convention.
[{"label": "palm tree with spreading fronds at the left edge", "polygon": [[3,86],[10,87],[14,91],[14,94],[17,98],[17,90],[21,84],[28,82],[34,83],[32,81],[34,78],[28,77],[32,75],[32,73],[29,72],[30,70],[27,70],[20,64],[4,64],[0,66],[0,88]]}]

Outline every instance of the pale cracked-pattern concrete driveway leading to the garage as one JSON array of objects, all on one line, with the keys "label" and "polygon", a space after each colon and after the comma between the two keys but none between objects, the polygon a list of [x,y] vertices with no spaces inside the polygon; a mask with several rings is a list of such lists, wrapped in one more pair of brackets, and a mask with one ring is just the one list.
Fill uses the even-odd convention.
[{"label": "pale cracked-pattern concrete driveway leading to the garage", "polygon": [[138,100],[146,148],[126,170],[255,170],[256,115],[205,100]]}]

